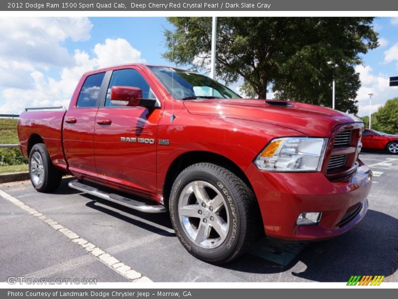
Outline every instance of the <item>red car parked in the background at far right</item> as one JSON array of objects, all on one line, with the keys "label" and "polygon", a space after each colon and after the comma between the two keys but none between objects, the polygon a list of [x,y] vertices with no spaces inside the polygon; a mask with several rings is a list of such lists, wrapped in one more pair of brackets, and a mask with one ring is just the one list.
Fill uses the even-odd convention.
[{"label": "red car parked in the background at far right", "polygon": [[398,153],[398,135],[365,129],[362,133],[363,149],[386,149],[390,153]]}]

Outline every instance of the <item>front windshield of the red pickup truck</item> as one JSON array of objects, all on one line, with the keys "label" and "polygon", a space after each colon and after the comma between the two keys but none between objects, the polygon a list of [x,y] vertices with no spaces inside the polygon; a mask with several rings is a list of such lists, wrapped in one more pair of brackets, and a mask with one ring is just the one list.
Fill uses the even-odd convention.
[{"label": "front windshield of the red pickup truck", "polygon": [[178,100],[239,99],[241,96],[206,76],[169,67],[148,66]]}]

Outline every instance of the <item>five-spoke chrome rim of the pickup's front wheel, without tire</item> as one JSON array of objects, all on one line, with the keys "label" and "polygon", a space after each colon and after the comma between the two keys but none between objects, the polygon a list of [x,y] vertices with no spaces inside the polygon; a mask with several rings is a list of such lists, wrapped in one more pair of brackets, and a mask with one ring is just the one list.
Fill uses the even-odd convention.
[{"label": "five-spoke chrome rim of the pickup's front wheel, without tire", "polygon": [[205,181],[193,181],[181,192],[178,203],[180,223],[199,247],[220,246],[229,231],[229,214],[220,191]]}]

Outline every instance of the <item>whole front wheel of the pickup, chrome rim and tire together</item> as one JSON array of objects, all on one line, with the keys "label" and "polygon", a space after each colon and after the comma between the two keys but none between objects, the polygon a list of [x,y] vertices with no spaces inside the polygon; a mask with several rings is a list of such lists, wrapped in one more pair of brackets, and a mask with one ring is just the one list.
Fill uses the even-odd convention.
[{"label": "whole front wheel of the pickup, chrome rim and tire together", "polygon": [[170,196],[177,237],[199,259],[222,264],[253,243],[258,206],[250,188],[231,171],[211,163],[183,170]]}]

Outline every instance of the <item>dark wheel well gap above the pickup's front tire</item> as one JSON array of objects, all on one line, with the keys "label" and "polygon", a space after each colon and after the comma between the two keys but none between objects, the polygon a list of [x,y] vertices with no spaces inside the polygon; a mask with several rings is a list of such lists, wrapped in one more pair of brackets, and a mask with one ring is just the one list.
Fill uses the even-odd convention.
[{"label": "dark wheel well gap above the pickup's front tire", "polygon": [[163,200],[164,204],[166,207],[169,205],[169,197],[170,197],[170,192],[171,188],[173,186],[174,180],[176,177],[179,175],[181,171],[183,171],[185,168],[192,164],[200,163],[200,162],[207,162],[207,163],[213,163],[219,166],[222,166],[229,171],[232,171],[235,173],[240,179],[242,179],[246,185],[253,190],[249,179],[247,178],[246,174],[242,171],[242,169],[239,168],[238,165],[236,165],[233,161],[230,159],[213,153],[213,152],[208,152],[208,151],[190,151],[187,153],[184,153],[177,157],[170,165],[167,174],[166,174],[166,179],[163,184]]}]

